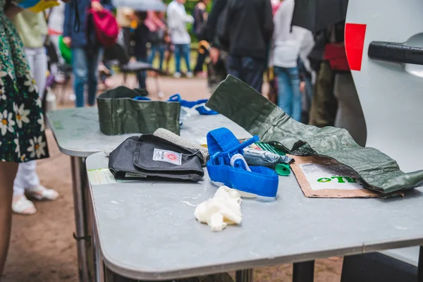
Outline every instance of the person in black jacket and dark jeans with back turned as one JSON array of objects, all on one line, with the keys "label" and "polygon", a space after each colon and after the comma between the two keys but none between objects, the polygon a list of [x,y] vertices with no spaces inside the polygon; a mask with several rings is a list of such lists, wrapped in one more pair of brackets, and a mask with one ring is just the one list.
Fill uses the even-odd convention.
[{"label": "person in black jacket and dark jeans with back turned", "polygon": [[228,73],[262,92],[274,30],[269,0],[228,1],[221,42],[229,47]]}]

